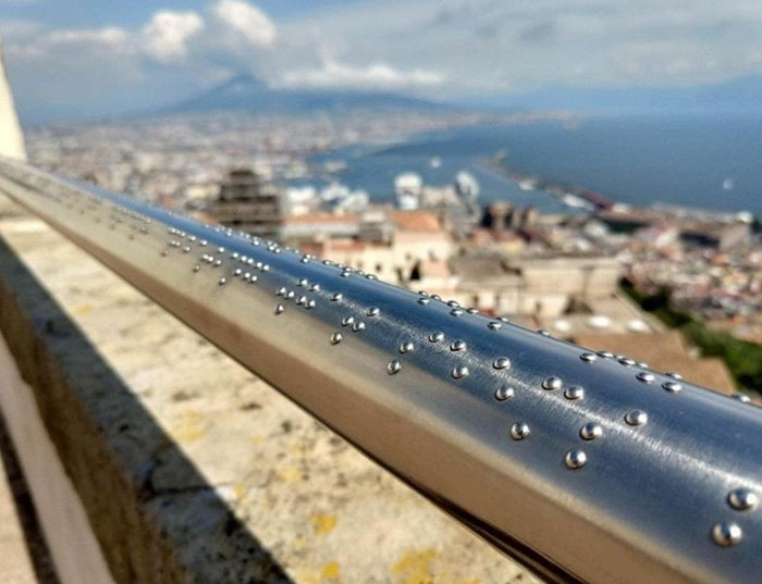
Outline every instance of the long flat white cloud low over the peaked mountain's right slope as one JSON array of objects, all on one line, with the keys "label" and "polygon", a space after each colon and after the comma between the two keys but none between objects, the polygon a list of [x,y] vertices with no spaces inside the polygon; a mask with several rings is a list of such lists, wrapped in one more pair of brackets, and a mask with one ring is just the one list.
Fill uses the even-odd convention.
[{"label": "long flat white cloud low over the peaked mountain's right slope", "polygon": [[309,70],[288,71],[283,75],[287,86],[383,88],[400,89],[439,85],[444,77],[433,71],[414,69],[402,71],[378,62],[367,66],[354,66],[325,60],[322,66]]}]

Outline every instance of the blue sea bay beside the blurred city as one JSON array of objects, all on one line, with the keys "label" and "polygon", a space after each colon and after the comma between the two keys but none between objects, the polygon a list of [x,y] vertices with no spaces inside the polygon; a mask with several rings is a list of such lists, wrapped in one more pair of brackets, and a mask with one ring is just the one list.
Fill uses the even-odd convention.
[{"label": "blue sea bay beside the blurred city", "polygon": [[598,191],[639,207],[654,203],[762,216],[762,116],[591,117],[574,124],[477,125],[418,134],[398,144],[359,145],[320,154],[315,167],[343,161],[345,170],[318,173],[364,189],[373,201],[394,198],[394,178],[416,172],[427,184],[452,183],[470,172],[483,202],[508,200],[543,212],[568,211],[541,190],[523,190],[497,170]]}]

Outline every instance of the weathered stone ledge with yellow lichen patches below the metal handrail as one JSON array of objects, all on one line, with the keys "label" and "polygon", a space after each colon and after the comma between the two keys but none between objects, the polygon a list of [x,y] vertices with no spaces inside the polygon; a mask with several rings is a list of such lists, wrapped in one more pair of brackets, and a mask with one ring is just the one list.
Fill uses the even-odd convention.
[{"label": "weathered stone ledge with yellow lichen patches below the metal handrail", "polygon": [[39,221],[0,235],[0,330],[114,582],[534,582]]}]

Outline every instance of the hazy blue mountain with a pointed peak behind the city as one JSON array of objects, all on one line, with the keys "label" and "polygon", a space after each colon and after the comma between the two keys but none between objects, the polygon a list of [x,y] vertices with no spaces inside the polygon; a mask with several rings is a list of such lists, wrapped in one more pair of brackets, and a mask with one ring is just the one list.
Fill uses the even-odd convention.
[{"label": "hazy blue mountain with a pointed peak behind the city", "polygon": [[454,110],[452,105],[388,91],[271,89],[251,75],[239,75],[197,96],[162,109],[161,113],[242,110],[251,113],[340,112],[359,109]]}]

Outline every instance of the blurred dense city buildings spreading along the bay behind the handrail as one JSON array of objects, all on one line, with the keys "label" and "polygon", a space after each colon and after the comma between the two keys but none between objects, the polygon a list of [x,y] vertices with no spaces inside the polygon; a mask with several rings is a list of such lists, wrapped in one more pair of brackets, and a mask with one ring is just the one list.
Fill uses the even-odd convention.
[{"label": "blurred dense city buildings spreading along the bay behind the handrail", "polygon": [[[567,114],[499,119],[548,120],[573,122]],[[695,347],[696,338],[675,344],[667,331],[674,323],[638,303],[667,295],[671,312],[751,350],[759,347],[762,239],[750,214],[634,208],[506,167],[506,181],[550,194],[569,212],[516,208],[508,198],[481,200],[477,179],[466,171],[450,184],[430,185],[404,167],[389,184],[394,202],[382,203],[342,183],[351,161],[316,159],[352,145],[490,122],[495,116],[452,112],[217,113],[39,127],[27,142],[30,161],[41,167],[269,236],[595,349],[625,353],[634,341],[663,343],[680,359],[695,360],[703,349],[704,357],[725,358],[725,365],[701,359],[710,372],[695,381],[727,392],[760,389],[759,371],[739,371],[716,347]],[[493,162],[500,169],[500,153]]]}]

